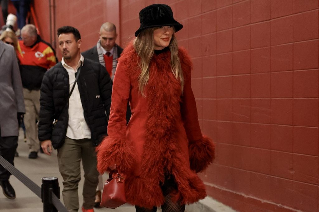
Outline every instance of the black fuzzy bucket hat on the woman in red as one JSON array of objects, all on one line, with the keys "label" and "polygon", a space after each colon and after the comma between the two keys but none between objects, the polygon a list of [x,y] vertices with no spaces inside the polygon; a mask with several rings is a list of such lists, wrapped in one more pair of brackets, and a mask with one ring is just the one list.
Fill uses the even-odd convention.
[{"label": "black fuzzy bucket hat on the woman in red", "polygon": [[175,32],[180,31],[183,25],[175,21],[173,11],[170,6],[166,4],[152,4],[139,13],[140,28],[135,32],[135,37],[147,28],[158,26],[174,26]]}]

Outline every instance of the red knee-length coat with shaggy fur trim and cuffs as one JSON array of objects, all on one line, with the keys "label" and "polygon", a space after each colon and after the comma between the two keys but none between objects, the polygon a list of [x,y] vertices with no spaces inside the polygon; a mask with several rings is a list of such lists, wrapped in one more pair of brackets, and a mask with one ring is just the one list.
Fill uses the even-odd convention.
[{"label": "red knee-length coat with shaggy fur trim and cuffs", "polygon": [[[179,49],[184,89],[174,77],[170,51],[154,54],[149,66],[146,97],[139,93],[140,68],[137,53],[130,44],[119,59],[113,81],[108,137],[97,147],[100,173],[117,167],[125,174],[127,202],[152,208],[164,203],[160,182],[174,175],[178,190],[175,200],[189,204],[206,196],[197,172],[213,161],[214,144],[203,137],[191,89],[191,60]],[[132,116],[126,126],[126,106]]]}]

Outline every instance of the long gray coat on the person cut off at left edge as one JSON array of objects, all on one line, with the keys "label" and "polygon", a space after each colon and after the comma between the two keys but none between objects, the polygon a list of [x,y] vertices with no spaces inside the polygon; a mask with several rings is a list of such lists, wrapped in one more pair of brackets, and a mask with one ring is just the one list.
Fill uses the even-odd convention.
[{"label": "long gray coat on the person cut off at left edge", "polygon": [[12,46],[0,41],[1,136],[18,136],[17,113],[25,113],[18,60]]}]

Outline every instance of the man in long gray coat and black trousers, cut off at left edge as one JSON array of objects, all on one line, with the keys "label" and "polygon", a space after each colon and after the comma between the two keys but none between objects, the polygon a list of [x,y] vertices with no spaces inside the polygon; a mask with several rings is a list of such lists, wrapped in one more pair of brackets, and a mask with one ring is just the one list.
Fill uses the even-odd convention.
[{"label": "man in long gray coat and black trousers, cut off at left edge", "polygon": [[[0,41],[0,155],[13,164],[18,147],[19,121],[25,111],[22,83],[16,53],[11,45]],[[16,198],[9,177],[0,165],[0,186],[9,199]]]}]

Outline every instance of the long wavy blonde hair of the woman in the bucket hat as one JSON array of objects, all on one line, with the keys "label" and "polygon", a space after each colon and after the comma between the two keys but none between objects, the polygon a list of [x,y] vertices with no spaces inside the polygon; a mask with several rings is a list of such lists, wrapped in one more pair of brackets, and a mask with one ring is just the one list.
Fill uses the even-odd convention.
[{"label": "long wavy blonde hair of the woman in the bucket hat", "polygon": [[[135,38],[133,45],[139,57],[138,65],[141,68],[141,74],[138,77],[139,92],[145,97],[145,86],[149,79],[149,65],[154,55],[154,39],[153,32],[156,28],[149,28],[141,31]],[[178,57],[177,39],[173,33],[171,42],[169,44],[171,52],[171,69],[177,80],[181,82],[181,92],[184,88],[184,77],[181,67],[181,61]]]}]

